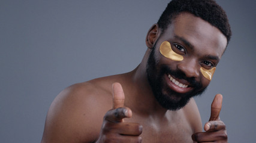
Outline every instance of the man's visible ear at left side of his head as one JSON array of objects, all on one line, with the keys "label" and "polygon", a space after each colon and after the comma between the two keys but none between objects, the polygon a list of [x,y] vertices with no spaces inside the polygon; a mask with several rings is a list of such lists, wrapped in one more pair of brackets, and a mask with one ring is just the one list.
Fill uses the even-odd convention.
[{"label": "man's visible ear at left side of his head", "polygon": [[158,39],[160,30],[158,27],[158,24],[153,24],[152,27],[150,27],[149,32],[147,32],[146,36],[146,45],[147,48],[152,49],[155,45],[156,40]]}]

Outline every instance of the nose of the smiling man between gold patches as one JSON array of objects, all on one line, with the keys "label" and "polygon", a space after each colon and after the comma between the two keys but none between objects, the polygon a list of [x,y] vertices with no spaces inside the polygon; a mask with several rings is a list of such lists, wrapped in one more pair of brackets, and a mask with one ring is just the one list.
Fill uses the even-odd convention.
[{"label": "nose of the smiling man between gold patches", "polygon": [[177,69],[183,71],[186,74],[186,77],[195,77],[197,78],[200,73],[200,65],[196,59],[184,59],[177,64]]}]

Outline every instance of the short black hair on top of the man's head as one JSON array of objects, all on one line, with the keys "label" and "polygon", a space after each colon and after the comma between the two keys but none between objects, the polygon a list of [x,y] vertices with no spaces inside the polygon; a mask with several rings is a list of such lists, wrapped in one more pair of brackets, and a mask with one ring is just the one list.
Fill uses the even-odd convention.
[{"label": "short black hair on top of the man's head", "polygon": [[214,0],[173,0],[169,2],[157,22],[161,31],[164,32],[171,24],[171,20],[182,12],[194,14],[208,21],[212,26],[221,30],[227,38],[227,43],[230,41],[231,29],[227,14]]}]

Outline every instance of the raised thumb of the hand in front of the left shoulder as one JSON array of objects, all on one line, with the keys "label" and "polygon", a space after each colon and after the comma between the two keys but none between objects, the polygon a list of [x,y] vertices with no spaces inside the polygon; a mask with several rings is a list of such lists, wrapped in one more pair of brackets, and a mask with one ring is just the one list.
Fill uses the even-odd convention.
[{"label": "raised thumb of the hand in front of the left shoulder", "polygon": [[125,94],[120,83],[115,82],[112,85],[113,92],[113,109],[124,107]]}]

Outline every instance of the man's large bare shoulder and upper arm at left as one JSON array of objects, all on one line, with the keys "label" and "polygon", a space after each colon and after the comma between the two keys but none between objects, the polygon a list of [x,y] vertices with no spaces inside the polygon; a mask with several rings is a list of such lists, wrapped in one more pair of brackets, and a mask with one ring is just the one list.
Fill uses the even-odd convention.
[{"label": "man's large bare shoulder and upper arm at left", "polygon": [[71,85],[52,102],[42,142],[93,142],[111,108],[111,83],[92,80]]}]

